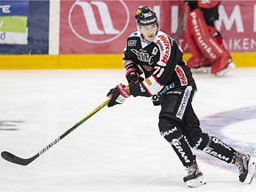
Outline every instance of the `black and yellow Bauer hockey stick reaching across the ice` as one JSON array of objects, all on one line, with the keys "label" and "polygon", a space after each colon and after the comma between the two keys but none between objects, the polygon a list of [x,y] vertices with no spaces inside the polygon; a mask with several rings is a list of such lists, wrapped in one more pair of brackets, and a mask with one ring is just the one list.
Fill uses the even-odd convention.
[{"label": "black and yellow Bauer hockey stick reaching across the ice", "polygon": [[79,122],[77,122],[73,127],[71,127],[70,129],[68,129],[67,132],[64,132],[62,135],[60,135],[59,138],[57,138],[56,140],[53,140],[52,143],[50,143],[49,145],[47,145],[45,148],[43,148],[41,151],[39,151],[35,156],[32,156],[30,158],[20,158],[19,156],[15,156],[12,153],[9,153],[7,151],[3,151],[1,153],[1,156],[6,160],[9,161],[13,164],[20,164],[20,165],[28,165],[31,162],[33,162],[36,158],[38,158],[39,156],[43,155],[44,152],[46,152],[49,148],[52,148],[52,146],[56,145],[60,140],[62,140],[64,137],[66,137],[70,132],[73,132],[78,126],[80,126],[81,124],[83,124],[87,119],[89,119],[91,116],[93,116],[94,114],[96,114],[98,111],[100,111],[101,108],[104,108],[106,105],[108,105],[108,102],[111,100],[111,98],[109,98],[108,100],[106,100],[105,102],[103,102],[98,108],[95,108],[91,113],[89,113],[87,116],[84,116],[84,118],[82,120],[80,120]]}]

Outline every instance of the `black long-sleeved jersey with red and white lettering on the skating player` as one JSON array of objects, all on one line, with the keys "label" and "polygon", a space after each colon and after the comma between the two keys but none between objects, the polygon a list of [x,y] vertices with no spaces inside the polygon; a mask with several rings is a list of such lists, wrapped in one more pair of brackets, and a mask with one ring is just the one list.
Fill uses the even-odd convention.
[{"label": "black long-sleeved jersey with red and white lettering on the skating player", "polygon": [[129,86],[131,94],[150,97],[181,86],[196,88],[182,55],[180,46],[162,31],[157,32],[153,42],[143,39],[138,31],[132,33],[124,47],[124,68],[138,66],[145,79]]}]

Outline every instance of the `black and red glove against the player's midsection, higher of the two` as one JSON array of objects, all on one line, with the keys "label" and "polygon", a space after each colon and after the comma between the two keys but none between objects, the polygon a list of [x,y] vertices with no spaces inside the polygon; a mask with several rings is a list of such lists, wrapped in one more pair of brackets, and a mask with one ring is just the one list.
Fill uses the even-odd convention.
[{"label": "black and red glove against the player's midsection, higher of the two", "polygon": [[134,63],[129,63],[125,66],[126,68],[126,79],[129,84],[136,84],[138,82],[143,81],[143,78],[140,76],[142,72],[140,69],[134,64]]}]

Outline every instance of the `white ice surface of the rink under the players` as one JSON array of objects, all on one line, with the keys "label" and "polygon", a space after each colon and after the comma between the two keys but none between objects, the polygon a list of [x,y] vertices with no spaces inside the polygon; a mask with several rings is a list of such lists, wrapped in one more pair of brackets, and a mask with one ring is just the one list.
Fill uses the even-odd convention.
[{"label": "white ice surface of the rink under the players", "polygon": [[[202,129],[256,156],[256,68],[195,78],[193,102]],[[108,90],[119,83],[125,84],[123,70],[1,70],[1,151],[36,155],[107,100]],[[207,184],[188,188],[184,167],[159,134],[159,109],[150,99],[130,97],[122,106],[102,108],[27,166],[1,157],[0,191],[255,191],[255,178],[241,184],[236,167],[197,151]]]}]

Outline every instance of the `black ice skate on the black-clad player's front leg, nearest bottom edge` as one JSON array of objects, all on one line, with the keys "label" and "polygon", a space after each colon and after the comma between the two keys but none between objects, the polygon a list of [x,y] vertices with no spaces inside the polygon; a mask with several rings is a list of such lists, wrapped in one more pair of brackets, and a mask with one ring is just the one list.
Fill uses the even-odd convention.
[{"label": "black ice skate on the black-clad player's front leg, nearest bottom edge", "polygon": [[188,175],[183,178],[184,182],[189,188],[196,188],[206,184],[203,179],[203,173],[199,170],[198,165],[194,162],[192,165],[187,167]]}]

